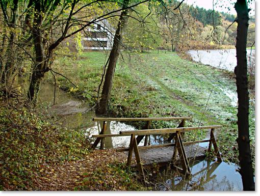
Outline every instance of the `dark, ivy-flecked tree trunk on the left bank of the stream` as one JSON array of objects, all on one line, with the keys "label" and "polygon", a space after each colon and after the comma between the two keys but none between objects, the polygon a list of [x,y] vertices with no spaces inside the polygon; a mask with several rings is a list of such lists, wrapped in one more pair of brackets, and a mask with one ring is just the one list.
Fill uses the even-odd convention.
[{"label": "dark, ivy-flecked tree trunk on the left bank of the stream", "polygon": [[33,67],[33,72],[30,79],[30,87],[28,91],[28,98],[34,104],[36,104],[38,99],[38,92],[40,89],[40,83],[44,77],[44,73],[48,71],[47,59],[44,54],[43,48],[43,33],[41,30],[42,25],[42,14],[41,13],[41,2],[35,2],[35,18],[33,26],[33,40],[34,40],[34,50],[35,50],[35,64]]}]

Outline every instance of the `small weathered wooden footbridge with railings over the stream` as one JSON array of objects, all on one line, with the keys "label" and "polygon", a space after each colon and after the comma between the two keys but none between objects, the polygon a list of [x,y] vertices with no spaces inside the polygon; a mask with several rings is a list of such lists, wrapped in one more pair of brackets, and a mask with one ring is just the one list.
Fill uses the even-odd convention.
[{"label": "small weathered wooden footbridge with railings over the stream", "polygon": [[[159,165],[171,164],[185,174],[190,174],[189,161],[201,157],[205,157],[205,152],[212,151],[214,147],[214,154],[217,161],[221,162],[221,155],[217,147],[214,130],[221,128],[220,125],[200,126],[200,127],[185,127],[185,121],[192,117],[167,117],[167,118],[93,118],[93,121],[103,122],[102,129],[96,137],[92,148],[95,149],[100,143],[100,149],[104,148],[104,140],[106,137],[131,136],[128,148],[117,149],[117,152],[128,152],[127,165],[130,166],[132,158],[136,159],[137,168],[144,176],[144,168],[151,167],[154,163]],[[181,120],[177,128],[164,129],[150,129],[151,121],[171,121]],[[147,129],[143,130],[125,130],[118,134],[106,134],[108,121],[146,121]],[[210,129],[210,139],[203,139],[200,141],[183,142],[183,135],[185,132]],[[149,135],[167,134],[167,144],[162,145],[147,145]],[[138,144],[144,140],[144,146]],[[199,143],[208,142],[209,147],[200,147]],[[133,155],[134,151],[134,155]],[[178,166],[181,165],[181,168]]]}]

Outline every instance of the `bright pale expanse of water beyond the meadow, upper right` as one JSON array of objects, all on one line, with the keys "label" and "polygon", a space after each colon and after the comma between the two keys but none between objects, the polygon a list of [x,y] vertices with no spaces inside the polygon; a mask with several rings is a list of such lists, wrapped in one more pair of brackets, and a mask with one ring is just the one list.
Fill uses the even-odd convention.
[{"label": "bright pale expanse of water beyond the meadow, upper right", "polygon": [[[249,60],[251,50],[247,49]],[[237,66],[236,49],[218,49],[218,50],[189,50],[193,61],[210,65],[212,67],[234,71]],[[254,57],[255,50],[252,49],[251,58]]]}]

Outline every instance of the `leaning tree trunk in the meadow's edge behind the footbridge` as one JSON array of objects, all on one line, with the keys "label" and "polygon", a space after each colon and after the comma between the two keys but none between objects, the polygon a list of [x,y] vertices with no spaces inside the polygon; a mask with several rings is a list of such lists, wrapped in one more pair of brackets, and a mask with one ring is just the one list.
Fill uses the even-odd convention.
[{"label": "leaning tree trunk in the meadow's edge behind the footbridge", "polygon": [[[126,8],[128,5],[129,0],[125,0],[123,4],[123,8]],[[113,85],[113,77],[114,77],[114,72],[116,68],[116,63],[120,54],[120,46],[121,46],[121,41],[122,41],[122,34],[123,31],[126,27],[128,16],[127,13],[128,10],[123,10],[121,12],[121,15],[119,17],[118,25],[117,25],[117,30],[114,36],[114,42],[113,42],[113,47],[109,55],[109,64],[105,76],[105,81],[102,89],[102,94],[101,94],[101,100],[98,104],[98,107],[96,109],[96,114],[98,115],[104,115],[107,114],[108,112],[108,100],[110,98],[111,90],[112,90],[112,85]]]}]

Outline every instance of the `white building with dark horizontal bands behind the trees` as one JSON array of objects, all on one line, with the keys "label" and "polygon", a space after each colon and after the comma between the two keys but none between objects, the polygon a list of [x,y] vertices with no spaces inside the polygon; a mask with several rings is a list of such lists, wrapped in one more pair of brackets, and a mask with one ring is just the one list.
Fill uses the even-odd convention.
[{"label": "white building with dark horizontal bands behind the trees", "polygon": [[110,50],[113,46],[115,30],[105,19],[95,23],[85,31],[83,48],[93,50]]}]

